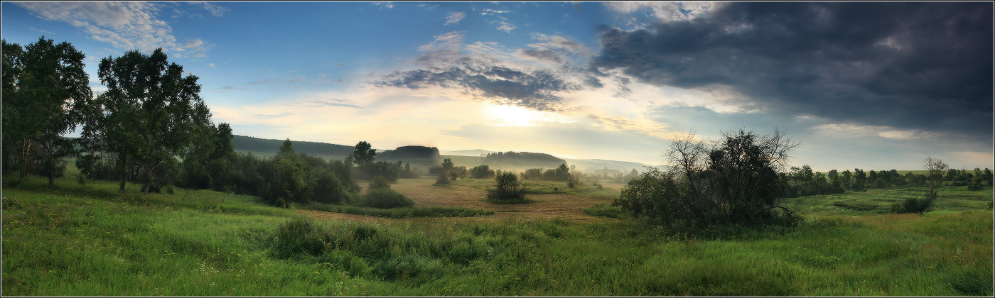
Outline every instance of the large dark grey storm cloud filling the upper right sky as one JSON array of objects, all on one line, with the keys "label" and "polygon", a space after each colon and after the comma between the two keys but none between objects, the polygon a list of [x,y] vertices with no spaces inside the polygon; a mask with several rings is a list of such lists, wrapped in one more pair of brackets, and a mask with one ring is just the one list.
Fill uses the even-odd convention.
[{"label": "large dark grey storm cloud filling the upper right sky", "polygon": [[779,113],[992,134],[992,3],[734,2],[600,41],[596,74],[728,86]]}]

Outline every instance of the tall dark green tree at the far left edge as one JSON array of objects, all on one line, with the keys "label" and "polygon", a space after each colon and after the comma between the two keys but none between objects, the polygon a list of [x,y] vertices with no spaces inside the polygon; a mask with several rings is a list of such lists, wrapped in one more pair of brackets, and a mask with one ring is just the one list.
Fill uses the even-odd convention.
[{"label": "tall dark green tree at the far left edge", "polygon": [[[42,37],[25,47],[18,59],[18,47],[7,46],[4,51],[11,50],[10,68],[20,67],[12,71],[8,77],[8,57],[4,55],[4,104],[6,109],[13,106],[17,116],[12,117],[13,129],[20,130],[16,136],[21,138],[22,162],[27,161],[29,151],[41,153],[43,167],[49,177],[49,184],[55,184],[55,164],[57,160],[73,152],[73,143],[61,136],[80,122],[83,106],[93,97],[90,89],[90,75],[84,72],[82,52],[73,45],[63,42],[55,44],[53,40]],[[20,61],[20,64],[16,63]],[[12,78],[9,82],[8,78]],[[7,84],[13,86],[12,96],[7,97]],[[7,119],[5,119],[7,120]],[[6,134],[6,133],[5,133]],[[37,148],[32,149],[33,146]],[[27,174],[27,163],[21,164],[21,176]]]}]

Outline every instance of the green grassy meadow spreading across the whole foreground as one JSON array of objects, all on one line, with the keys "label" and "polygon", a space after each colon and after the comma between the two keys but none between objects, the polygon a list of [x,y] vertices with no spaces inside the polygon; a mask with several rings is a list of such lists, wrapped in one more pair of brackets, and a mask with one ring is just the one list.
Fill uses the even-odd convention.
[{"label": "green grassy meadow spreading across the whole foreground", "polygon": [[[7,183],[5,181],[5,183]],[[785,203],[797,227],[675,235],[617,217],[618,188],[530,182],[535,203],[480,201],[489,180],[391,188],[417,207],[495,212],[388,219],[128,185],[3,189],[2,294],[15,296],[991,296],[992,189],[945,188],[935,211],[882,214],[918,189]],[[588,212],[585,212],[587,210]],[[599,217],[593,215],[616,215]]]}]

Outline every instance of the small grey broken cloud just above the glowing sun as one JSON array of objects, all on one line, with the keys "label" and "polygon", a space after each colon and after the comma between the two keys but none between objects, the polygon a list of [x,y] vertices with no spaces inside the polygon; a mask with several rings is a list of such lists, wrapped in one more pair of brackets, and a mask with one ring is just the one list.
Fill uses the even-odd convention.
[{"label": "small grey broken cloud just above the glowing sun", "polygon": [[555,92],[580,89],[577,84],[546,71],[517,71],[469,59],[448,68],[394,72],[374,84],[411,89],[432,85],[461,87],[481,92],[501,103],[543,111],[559,109],[561,98]]}]

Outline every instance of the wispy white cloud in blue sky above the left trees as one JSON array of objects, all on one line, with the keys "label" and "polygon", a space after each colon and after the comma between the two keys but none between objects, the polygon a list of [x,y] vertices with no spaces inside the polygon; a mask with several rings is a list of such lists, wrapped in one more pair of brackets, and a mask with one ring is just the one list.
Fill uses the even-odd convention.
[{"label": "wispy white cloud in blue sky above the left trees", "polygon": [[163,48],[171,56],[201,58],[209,48],[196,39],[180,43],[169,24],[159,20],[159,7],[150,2],[16,2],[31,14],[49,21],[66,22],[82,29],[90,39],[119,50],[149,53]]}]

